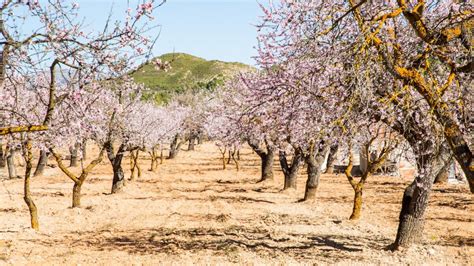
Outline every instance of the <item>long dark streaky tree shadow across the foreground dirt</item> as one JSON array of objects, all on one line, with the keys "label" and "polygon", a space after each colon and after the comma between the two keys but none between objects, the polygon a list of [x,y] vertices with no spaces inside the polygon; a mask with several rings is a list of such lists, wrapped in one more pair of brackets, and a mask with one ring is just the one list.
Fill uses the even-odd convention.
[{"label": "long dark streaky tree shadow across the foreground dirt", "polygon": [[[234,251],[250,251],[257,254],[284,253],[294,258],[308,256],[320,259],[330,254],[331,259],[348,259],[357,256],[364,248],[383,249],[387,239],[374,237],[352,238],[341,235],[278,234],[267,230],[241,226],[226,229],[143,229],[135,231],[90,231],[66,235],[63,239],[32,240],[41,245],[57,245],[58,242],[75,248],[99,251],[124,251],[129,254],[211,251],[227,255]],[[368,243],[376,243],[368,245]],[[324,255],[326,253],[326,255]],[[354,254],[354,255],[351,255]]]}]

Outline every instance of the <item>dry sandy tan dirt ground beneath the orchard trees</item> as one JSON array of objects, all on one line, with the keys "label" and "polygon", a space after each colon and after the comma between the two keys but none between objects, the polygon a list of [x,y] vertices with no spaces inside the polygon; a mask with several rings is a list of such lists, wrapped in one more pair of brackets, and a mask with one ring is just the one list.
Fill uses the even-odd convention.
[{"label": "dry sandy tan dirt ground beneath the orchard trees", "polygon": [[[90,154],[91,152],[89,152]],[[72,209],[72,181],[58,168],[32,180],[40,231],[29,229],[22,180],[0,170],[0,265],[191,264],[411,264],[474,265],[474,199],[467,185],[436,185],[424,243],[392,252],[400,200],[409,179],[371,177],[362,218],[349,221],[353,192],[343,175],[323,175],[318,199],[298,202],[275,182],[256,183],[258,158],[242,151],[241,170],[222,170],[211,143],[182,151],[156,173],[147,171],[109,195],[111,167],[104,159]],[[124,160],[128,171],[128,160]]]}]

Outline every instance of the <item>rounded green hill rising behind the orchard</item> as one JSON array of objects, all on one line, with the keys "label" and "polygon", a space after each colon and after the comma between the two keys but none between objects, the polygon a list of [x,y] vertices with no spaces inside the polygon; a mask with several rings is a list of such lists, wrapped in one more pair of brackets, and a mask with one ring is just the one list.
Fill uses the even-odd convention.
[{"label": "rounded green hill rising behind the orchard", "polygon": [[158,58],[163,62],[170,62],[171,69],[167,72],[157,71],[152,64],[144,64],[132,74],[136,82],[143,83],[152,90],[152,95],[148,97],[154,97],[158,102],[169,100],[175,93],[206,88],[216,80],[252,69],[242,63],[208,61],[185,53],[169,53]]}]

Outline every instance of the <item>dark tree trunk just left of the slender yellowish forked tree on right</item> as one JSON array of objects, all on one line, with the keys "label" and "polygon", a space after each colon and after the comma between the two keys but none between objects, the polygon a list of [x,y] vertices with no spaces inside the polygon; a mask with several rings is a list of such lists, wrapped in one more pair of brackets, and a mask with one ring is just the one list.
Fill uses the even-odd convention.
[{"label": "dark tree trunk just left of the slender yellowish forked tree on right", "polygon": [[314,155],[314,152],[311,152],[310,155],[305,158],[308,179],[306,181],[304,201],[316,199],[316,191],[318,190],[319,178],[321,176],[321,167],[323,166],[324,159],[329,149],[328,145],[324,145],[323,143],[321,143],[321,145],[322,146],[317,150],[317,154]]}]

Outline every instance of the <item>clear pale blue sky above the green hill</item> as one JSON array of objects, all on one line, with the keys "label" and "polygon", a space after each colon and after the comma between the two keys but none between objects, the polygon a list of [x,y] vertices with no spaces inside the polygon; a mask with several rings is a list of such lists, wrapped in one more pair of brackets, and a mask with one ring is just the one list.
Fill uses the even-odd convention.
[{"label": "clear pale blue sky above the green hill", "polygon": [[[130,1],[135,4],[137,1]],[[81,15],[99,29],[113,5],[122,15],[127,0],[78,0]],[[153,23],[160,34],[153,53],[184,52],[205,59],[254,65],[257,31],[261,14],[257,0],[167,0],[155,11]]]}]

